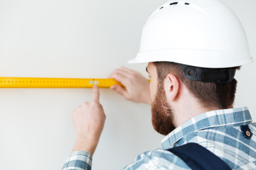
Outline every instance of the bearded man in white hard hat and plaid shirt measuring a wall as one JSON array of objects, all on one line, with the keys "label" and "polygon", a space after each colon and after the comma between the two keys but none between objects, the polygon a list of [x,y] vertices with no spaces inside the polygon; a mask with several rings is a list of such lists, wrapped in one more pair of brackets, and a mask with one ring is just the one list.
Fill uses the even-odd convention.
[{"label": "bearded man in white hard hat and plaid shirt measuring a wall", "polygon": [[[151,103],[154,129],[166,137],[163,149],[139,155],[124,169],[191,169],[167,150],[188,143],[203,146],[230,169],[256,169],[256,125],[246,107],[233,108],[235,71],[252,58],[244,30],[227,6],[218,0],[168,1],[146,22],[140,51],[130,62],[149,63],[150,85],[137,72],[120,68],[110,77],[125,88],[112,89]],[[63,169],[91,169],[104,122],[94,86],[92,101],[73,112],[78,135]]]}]

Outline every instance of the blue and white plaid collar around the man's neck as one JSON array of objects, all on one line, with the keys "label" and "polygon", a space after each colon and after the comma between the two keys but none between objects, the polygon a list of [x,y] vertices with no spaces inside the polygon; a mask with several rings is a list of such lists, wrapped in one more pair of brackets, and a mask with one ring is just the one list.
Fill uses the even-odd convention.
[{"label": "blue and white plaid collar around the man's neck", "polygon": [[198,130],[214,127],[248,125],[251,122],[252,118],[247,107],[209,111],[187,120],[178,128],[170,132],[169,135],[162,140],[162,147],[164,149],[174,147],[176,142],[181,140],[183,136]]}]

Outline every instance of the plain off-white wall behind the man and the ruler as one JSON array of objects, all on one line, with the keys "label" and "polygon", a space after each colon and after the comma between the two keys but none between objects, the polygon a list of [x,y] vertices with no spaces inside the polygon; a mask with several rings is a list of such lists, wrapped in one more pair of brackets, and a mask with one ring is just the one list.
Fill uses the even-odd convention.
[{"label": "plain off-white wall behind the man and the ruler", "polygon": [[[1,0],[0,77],[107,78],[121,66],[147,77],[146,64],[126,64],[142,27],[164,0]],[[225,0],[256,57],[256,1]],[[216,9],[218,12],[218,9]],[[256,120],[255,66],[236,75],[235,107]],[[0,169],[61,169],[75,140],[71,113],[92,89],[0,89]],[[161,147],[151,108],[100,89],[107,120],[92,169],[122,169],[137,154]]]}]

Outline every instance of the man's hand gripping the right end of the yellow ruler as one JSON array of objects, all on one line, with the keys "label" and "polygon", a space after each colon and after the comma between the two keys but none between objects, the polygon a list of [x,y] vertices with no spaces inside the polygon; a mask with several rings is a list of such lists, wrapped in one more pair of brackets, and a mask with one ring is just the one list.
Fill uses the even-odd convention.
[{"label": "man's hand gripping the right end of the yellow ruler", "polygon": [[136,103],[148,103],[151,105],[149,81],[142,74],[131,69],[121,67],[110,74],[110,78],[119,81],[124,87],[113,85],[110,89],[121,94],[129,101]]}]

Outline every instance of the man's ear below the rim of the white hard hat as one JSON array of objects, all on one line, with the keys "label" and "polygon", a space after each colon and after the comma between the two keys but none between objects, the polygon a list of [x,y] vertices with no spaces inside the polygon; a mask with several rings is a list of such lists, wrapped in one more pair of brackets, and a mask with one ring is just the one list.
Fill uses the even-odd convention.
[{"label": "man's ear below the rim of the white hard hat", "polygon": [[174,74],[168,74],[164,80],[164,89],[166,96],[170,101],[175,101],[180,91],[180,81]]}]

